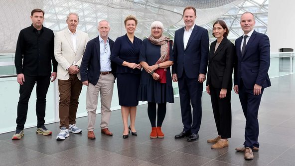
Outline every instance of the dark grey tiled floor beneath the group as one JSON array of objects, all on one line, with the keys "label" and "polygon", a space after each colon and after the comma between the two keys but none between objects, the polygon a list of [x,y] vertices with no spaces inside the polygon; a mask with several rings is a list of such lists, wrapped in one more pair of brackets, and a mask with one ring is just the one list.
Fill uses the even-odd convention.
[{"label": "dark grey tiled floor beneath the group", "polygon": [[[245,161],[235,151],[244,142],[245,118],[238,95],[232,92],[232,138],[229,148],[210,149],[206,140],[216,136],[209,95],[203,93],[203,115],[196,142],[175,140],[182,130],[179,99],[167,104],[162,126],[164,139],[149,139],[150,124],[147,105],[138,107],[138,137],[122,139],[121,112],[113,111],[110,130],[113,137],[95,131],[96,140],[87,139],[87,118],[77,119],[82,134],[70,134],[65,141],[56,141],[58,123],[46,125],[52,136],[25,129],[25,136],[12,141],[13,133],[0,135],[0,166],[295,166],[295,75],[271,79],[272,87],[264,92],[259,110],[260,150],[255,159]],[[99,128],[100,115],[96,126]]]}]

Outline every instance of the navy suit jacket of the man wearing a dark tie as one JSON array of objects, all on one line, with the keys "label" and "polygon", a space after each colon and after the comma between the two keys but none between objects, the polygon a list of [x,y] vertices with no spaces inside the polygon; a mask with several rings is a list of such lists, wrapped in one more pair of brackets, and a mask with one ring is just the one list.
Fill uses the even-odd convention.
[{"label": "navy suit jacket of the man wearing a dark tie", "polygon": [[242,57],[241,43],[243,36],[235,41],[236,53],[234,68],[234,84],[240,85],[241,78],[247,89],[253,89],[255,84],[266,88],[271,86],[268,75],[270,67],[270,40],[265,34],[253,31],[245,47]]}]

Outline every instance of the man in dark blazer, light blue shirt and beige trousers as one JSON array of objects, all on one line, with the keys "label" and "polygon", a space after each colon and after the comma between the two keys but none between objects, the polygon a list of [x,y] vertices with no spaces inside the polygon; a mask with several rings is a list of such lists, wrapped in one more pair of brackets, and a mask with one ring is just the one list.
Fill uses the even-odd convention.
[{"label": "man in dark blazer, light blue shirt and beige trousers", "polygon": [[116,78],[116,65],[111,62],[114,41],[108,37],[110,24],[107,20],[101,20],[98,23],[98,31],[99,36],[87,43],[80,67],[81,81],[83,85],[88,86],[86,95],[88,139],[95,139],[94,126],[99,93],[101,97],[101,133],[113,136],[108,126]]}]

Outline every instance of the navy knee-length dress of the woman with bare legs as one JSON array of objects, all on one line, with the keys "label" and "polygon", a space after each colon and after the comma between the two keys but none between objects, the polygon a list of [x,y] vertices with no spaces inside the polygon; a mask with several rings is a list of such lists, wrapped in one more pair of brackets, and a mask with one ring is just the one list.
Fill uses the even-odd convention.
[{"label": "navy knee-length dress of the woman with bare legs", "polygon": [[139,64],[142,40],[134,36],[133,43],[127,34],[118,37],[114,43],[111,59],[117,66],[117,88],[119,105],[135,107],[138,105],[137,94],[140,84],[141,70],[123,66],[123,62]]}]

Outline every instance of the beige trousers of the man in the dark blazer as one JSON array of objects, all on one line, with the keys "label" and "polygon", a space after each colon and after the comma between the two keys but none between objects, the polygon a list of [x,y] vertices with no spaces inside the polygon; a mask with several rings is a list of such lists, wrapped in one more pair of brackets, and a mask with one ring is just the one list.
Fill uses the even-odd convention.
[{"label": "beige trousers of the man in the dark blazer", "polygon": [[112,73],[100,75],[96,85],[89,83],[86,94],[86,110],[88,114],[88,131],[94,131],[98,94],[101,98],[101,129],[108,128],[111,117],[111,102],[115,77]]}]

